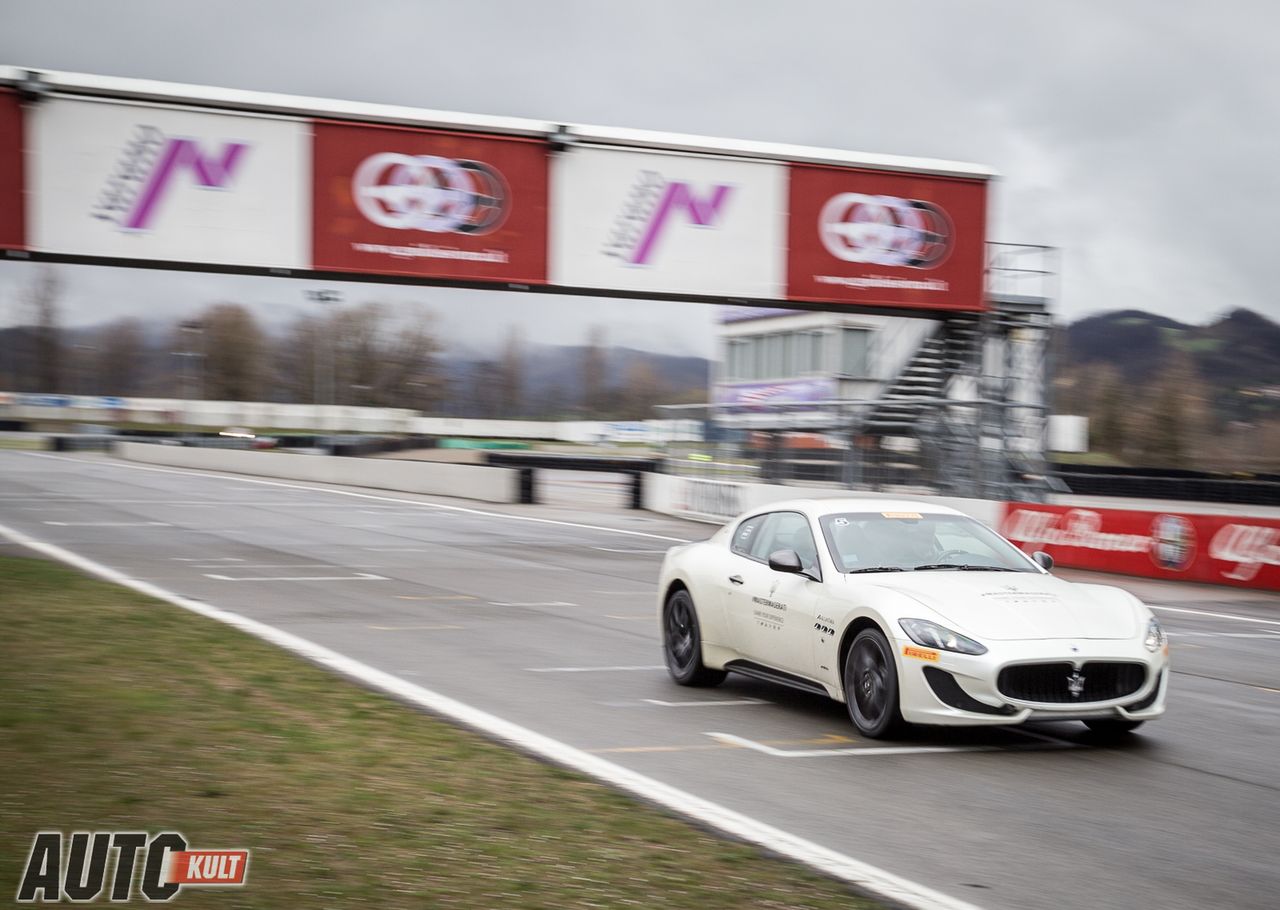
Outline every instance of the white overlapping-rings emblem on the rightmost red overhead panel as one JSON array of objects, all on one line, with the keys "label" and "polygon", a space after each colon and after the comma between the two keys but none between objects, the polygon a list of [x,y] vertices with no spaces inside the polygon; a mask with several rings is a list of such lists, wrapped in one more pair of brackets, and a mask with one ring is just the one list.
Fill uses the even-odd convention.
[{"label": "white overlapping-rings emblem on the rightmost red overhead panel", "polygon": [[932,269],[951,248],[951,219],[932,202],[838,193],[818,215],[818,235],[845,262]]}]

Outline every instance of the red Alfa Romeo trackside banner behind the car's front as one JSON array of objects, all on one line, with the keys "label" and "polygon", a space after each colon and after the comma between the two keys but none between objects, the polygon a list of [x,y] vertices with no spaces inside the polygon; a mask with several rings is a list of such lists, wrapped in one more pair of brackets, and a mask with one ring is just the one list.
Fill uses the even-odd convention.
[{"label": "red Alfa Romeo trackside banner behind the car's front", "polygon": [[1280,590],[1280,520],[1009,503],[1001,532],[1070,568]]}]

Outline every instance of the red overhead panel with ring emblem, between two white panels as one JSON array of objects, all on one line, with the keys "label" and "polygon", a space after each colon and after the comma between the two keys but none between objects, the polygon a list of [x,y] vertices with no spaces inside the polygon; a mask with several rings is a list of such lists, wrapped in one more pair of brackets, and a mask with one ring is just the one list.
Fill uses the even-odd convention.
[{"label": "red overhead panel with ring emblem, between two white panels", "polygon": [[547,282],[547,146],[317,122],[316,269]]}]

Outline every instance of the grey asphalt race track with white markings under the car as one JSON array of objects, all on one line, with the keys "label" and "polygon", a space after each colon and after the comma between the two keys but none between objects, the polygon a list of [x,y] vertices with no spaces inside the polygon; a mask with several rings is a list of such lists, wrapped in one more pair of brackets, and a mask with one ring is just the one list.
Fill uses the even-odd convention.
[{"label": "grey asphalt race track with white markings under the car", "polygon": [[1169,714],[1124,746],[1079,724],[868,742],[820,698],[675,686],[657,570],[713,529],[625,511],[605,475],[544,490],[490,507],[0,452],[0,525],[980,907],[1276,906],[1280,598],[1110,580],[1178,611]]}]

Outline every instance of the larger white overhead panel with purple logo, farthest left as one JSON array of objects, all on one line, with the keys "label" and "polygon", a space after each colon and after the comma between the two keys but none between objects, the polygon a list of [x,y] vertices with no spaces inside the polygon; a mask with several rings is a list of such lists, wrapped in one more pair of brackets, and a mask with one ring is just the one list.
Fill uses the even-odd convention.
[{"label": "larger white overhead panel with purple logo, farthest left", "polygon": [[32,250],[310,266],[306,122],[68,99],[32,114]]}]

